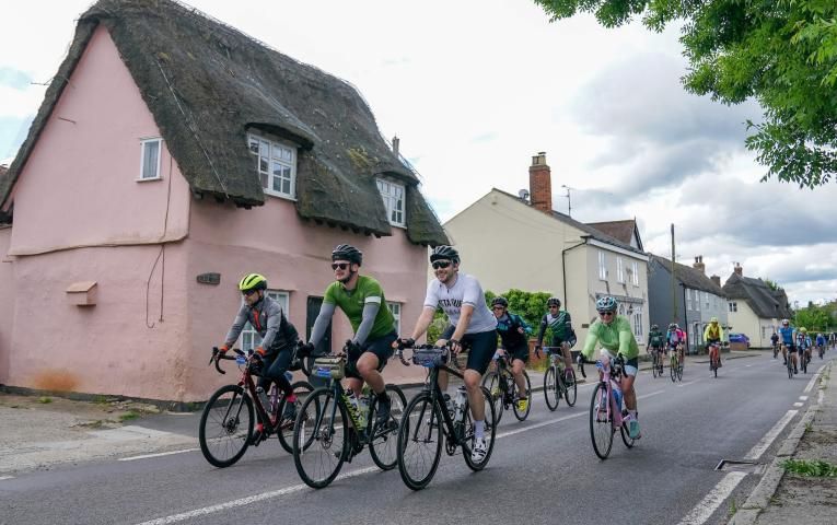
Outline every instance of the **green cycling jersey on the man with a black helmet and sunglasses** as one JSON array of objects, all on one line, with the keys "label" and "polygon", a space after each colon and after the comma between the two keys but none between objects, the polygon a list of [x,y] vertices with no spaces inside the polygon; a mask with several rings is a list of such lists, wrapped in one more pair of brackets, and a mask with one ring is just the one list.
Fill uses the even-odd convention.
[{"label": "green cycling jersey on the man with a black helmet and sunglasses", "polygon": [[395,330],[395,318],[386,306],[384,290],[381,283],[371,277],[359,276],[354,290],[347,290],[339,281],[333,282],[326,289],[323,303],[339,306],[349,318],[351,329],[356,334],[363,319],[363,306],[368,303],[377,304],[380,307],[368,338],[379,339]]}]

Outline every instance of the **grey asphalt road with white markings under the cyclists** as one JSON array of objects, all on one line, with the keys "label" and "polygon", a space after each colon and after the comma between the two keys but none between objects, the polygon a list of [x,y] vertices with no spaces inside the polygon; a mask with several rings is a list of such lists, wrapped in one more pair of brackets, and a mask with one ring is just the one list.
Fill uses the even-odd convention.
[{"label": "grey asphalt road with white markings under the cyclists", "polygon": [[[758,444],[782,418],[787,433],[810,402],[800,396],[814,397],[816,390],[804,393],[812,374],[789,381],[769,355],[728,360],[718,378],[706,368],[691,360],[677,384],[641,373],[643,438],[627,450],[617,435],[605,462],[590,444],[588,385],[574,408],[562,404],[549,412],[538,395],[526,422],[507,415],[486,470],[473,474],[461,456],[443,456],[420,492],[407,489],[397,469],[377,471],[365,454],[345,465],[348,477],[315,491],[300,482],[278,443],[267,442],[228,469],[211,467],[193,451],[0,480],[0,524],[553,524],[601,523],[602,514],[616,518],[619,512],[624,523],[723,523],[731,501],[743,502],[758,475],[734,475],[735,490],[730,498],[721,492],[712,512],[711,502],[701,500],[730,479],[714,470],[718,463],[747,455],[769,462],[776,445]],[[799,413],[790,419],[789,410]],[[194,434],[197,417],[182,417],[177,424]],[[691,521],[682,522],[687,516]]]}]

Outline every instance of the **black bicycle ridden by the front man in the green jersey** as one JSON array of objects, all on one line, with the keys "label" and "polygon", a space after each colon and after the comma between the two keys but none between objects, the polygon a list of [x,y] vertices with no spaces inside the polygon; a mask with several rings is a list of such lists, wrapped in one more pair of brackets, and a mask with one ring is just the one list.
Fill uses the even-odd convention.
[{"label": "black bicycle ridden by the front man in the green jersey", "polygon": [[360,400],[356,405],[340,384],[346,376],[345,352],[315,359],[312,374],[328,380],[328,384],[309,394],[297,413],[293,464],[305,485],[314,489],[327,487],[344,463],[351,462],[367,446],[381,470],[395,468],[398,418],[406,405],[402,389],[397,385],[385,385],[391,402],[390,418],[384,424],[377,424],[379,400],[374,392],[370,393],[368,402],[358,393]]}]

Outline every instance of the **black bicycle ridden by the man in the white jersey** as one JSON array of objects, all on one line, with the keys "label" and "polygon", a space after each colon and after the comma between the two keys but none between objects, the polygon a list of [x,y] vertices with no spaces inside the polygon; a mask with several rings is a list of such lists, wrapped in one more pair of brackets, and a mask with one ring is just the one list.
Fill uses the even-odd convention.
[{"label": "black bicycle ridden by the man in the white jersey", "polygon": [[[439,387],[440,371],[445,371],[464,380],[458,370],[447,365],[455,357],[451,355],[447,347],[403,346],[399,343],[398,358],[407,366],[410,365],[410,362],[405,360],[403,354],[407,348],[412,349],[412,364],[428,369],[428,377],[422,390],[407,404],[398,429],[397,457],[402,480],[412,490],[421,490],[427,487],[439,467],[443,441],[445,453],[449,456],[453,456],[456,448],[462,446],[462,453],[468,468],[474,471],[484,469],[491,458],[497,434],[495,406],[490,401],[491,394],[486,387],[480,386],[485,405],[487,451],[480,462],[475,462],[470,453],[476,436],[465,387],[461,386],[457,390],[453,413],[449,411],[442,389]],[[442,439],[443,435],[444,440]],[[422,468],[426,470],[422,471]]]}]

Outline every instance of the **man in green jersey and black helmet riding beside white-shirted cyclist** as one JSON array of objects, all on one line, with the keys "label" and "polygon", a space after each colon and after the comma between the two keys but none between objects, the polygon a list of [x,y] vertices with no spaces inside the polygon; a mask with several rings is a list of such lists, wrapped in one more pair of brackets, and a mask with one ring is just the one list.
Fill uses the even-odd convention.
[{"label": "man in green jersey and black helmet riding beside white-shirted cyclist", "polygon": [[391,401],[381,372],[393,354],[393,342],[398,338],[395,318],[386,306],[384,290],[373,278],[361,276],[363,254],[349,244],[332,250],[332,270],[335,281],[326,288],[319,314],[309,338],[309,349],[315,348],[325,336],[336,308],[349,318],[354,336],[347,341],[346,386],[360,396],[363,382],[377,397],[376,424],[390,419]]}]

